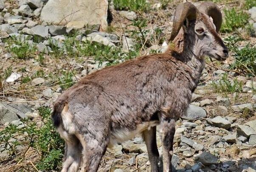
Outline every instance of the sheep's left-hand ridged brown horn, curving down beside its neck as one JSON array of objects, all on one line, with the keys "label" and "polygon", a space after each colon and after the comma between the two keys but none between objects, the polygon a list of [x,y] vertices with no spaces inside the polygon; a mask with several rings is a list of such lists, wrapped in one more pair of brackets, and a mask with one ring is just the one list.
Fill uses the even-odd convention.
[{"label": "sheep's left-hand ridged brown horn, curving down beside its neck", "polygon": [[183,3],[177,6],[174,12],[174,19],[172,24],[172,33],[170,40],[174,40],[180,31],[183,22],[188,18],[188,20],[193,20],[197,18],[197,7],[192,3]]}]

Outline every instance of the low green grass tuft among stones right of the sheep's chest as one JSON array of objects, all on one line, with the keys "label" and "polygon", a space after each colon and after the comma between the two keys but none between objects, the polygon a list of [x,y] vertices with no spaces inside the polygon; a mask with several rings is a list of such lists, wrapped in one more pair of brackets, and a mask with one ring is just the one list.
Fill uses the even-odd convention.
[{"label": "low green grass tuft among stones right of the sheep's chest", "polygon": [[211,86],[214,88],[216,93],[234,93],[242,92],[243,83],[238,81],[236,78],[231,82],[228,80],[228,74],[224,74],[218,82],[212,82]]}]

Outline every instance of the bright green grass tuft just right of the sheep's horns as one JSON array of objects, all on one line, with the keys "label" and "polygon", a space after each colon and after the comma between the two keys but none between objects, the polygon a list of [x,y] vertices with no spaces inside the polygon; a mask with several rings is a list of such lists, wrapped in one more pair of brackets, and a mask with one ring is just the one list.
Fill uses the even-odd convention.
[{"label": "bright green grass tuft just right of the sheep's horns", "polygon": [[220,30],[222,33],[231,33],[248,25],[249,15],[243,11],[238,11],[236,8],[224,9],[224,14],[224,22]]}]

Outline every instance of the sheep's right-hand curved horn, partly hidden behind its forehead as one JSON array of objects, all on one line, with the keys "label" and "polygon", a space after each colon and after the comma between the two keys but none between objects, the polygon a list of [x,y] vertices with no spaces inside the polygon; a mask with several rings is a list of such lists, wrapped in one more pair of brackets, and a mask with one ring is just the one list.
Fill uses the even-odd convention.
[{"label": "sheep's right-hand curved horn, partly hidden behind its forehead", "polygon": [[197,9],[207,14],[208,16],[211,16],[213,19],[214,25],[216,26],[216,31],[219,32],[221,24],[222,24],[222,14],[219,9],[219,7],[211,2],[205,2],[202,3],[200,6],[197,6]]}]

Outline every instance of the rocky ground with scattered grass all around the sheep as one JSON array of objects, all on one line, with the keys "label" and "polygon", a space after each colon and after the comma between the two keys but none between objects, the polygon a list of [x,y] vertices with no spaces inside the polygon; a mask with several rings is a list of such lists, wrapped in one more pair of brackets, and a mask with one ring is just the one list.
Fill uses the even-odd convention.
[{"label": "rocky ground with scattered grass all around the sheep", "polygon": [[[172,14],[182,1],[145,1],[130,11],[117,7],[117,2],[122,1],[106,5],[112,14],[107,17],[110,24],[101,21],[92,27],[73,21],[57,26],[61,19],[49,25],[44,21],[49,13],[41,14],[47,11],[45,6],[49,8],[47,0],[0,1],[0,172],[58,171],[64,145],[54,141],[58,136],[49,116],[54,100],[96,70],[164,51]],[[222,63],[206,59],[187,116],[176,122],[173,169],[255,172],[256,7],[250,5],[253,0],[214,2],[222,11],[232,7],[243,11],[251,29],[223,27],[231,57]],[[251,49],[245,49],[248,43]],[[242,58],[255,60],[240,65],[236,63],[239,52]],[[157,139],[161,154],[158,134]],[[150,172],[141,136],[108,149],[98,171]]]}]

